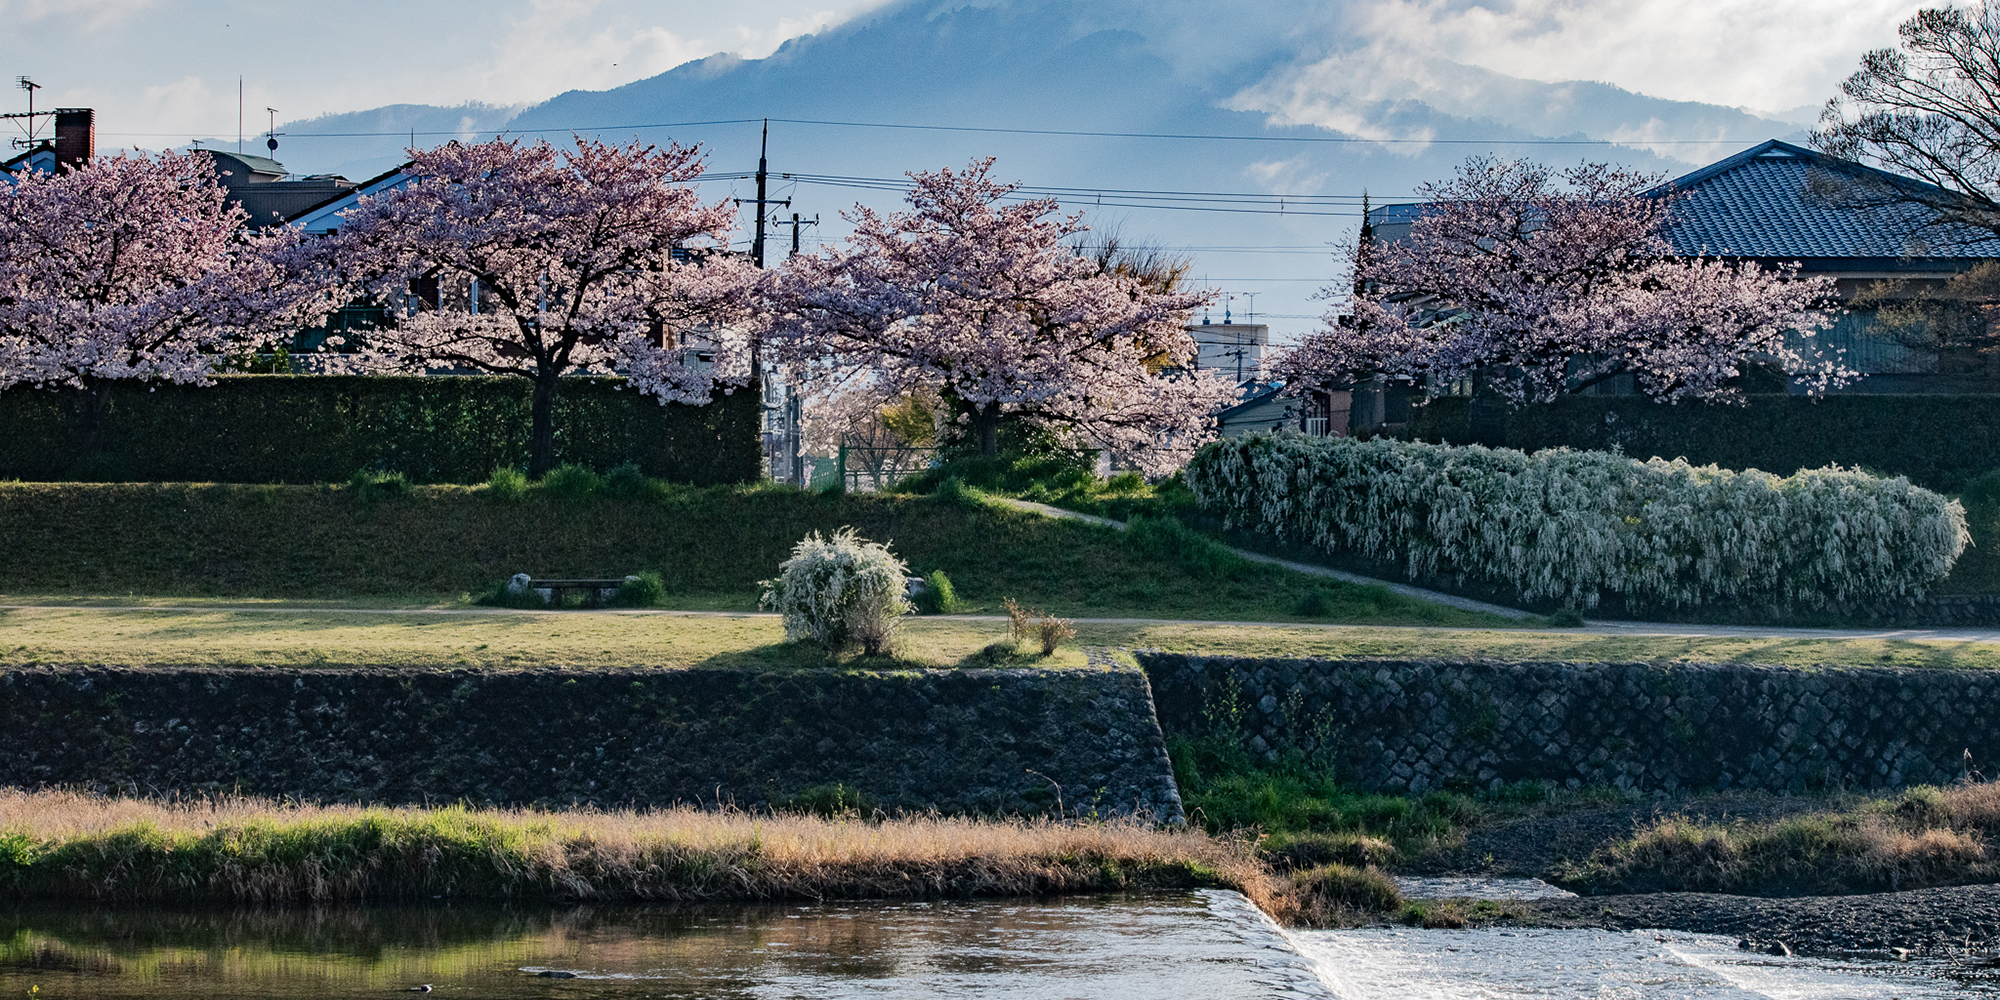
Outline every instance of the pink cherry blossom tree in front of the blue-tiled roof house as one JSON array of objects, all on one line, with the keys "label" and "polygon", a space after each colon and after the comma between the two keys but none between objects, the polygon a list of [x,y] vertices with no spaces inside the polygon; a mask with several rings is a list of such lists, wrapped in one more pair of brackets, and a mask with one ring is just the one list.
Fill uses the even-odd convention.
[{"label": "pink cherry blossom tree in front of the blue-tiled roof house", "polygon": [[1672,256],[1674,198],[1656,182],[1474,158],[1420,188],[1408,238],[1356,248],[1352,314],[1328,314],[1270,372],[1294,392],[1388,376],[1442,394],[1478,378],[1514,404],[1620,374],[1656,400],[1716,398],[1752,360],[1814,390],[1854,378],[1810,346],[1832,322],[1832,280]]}]

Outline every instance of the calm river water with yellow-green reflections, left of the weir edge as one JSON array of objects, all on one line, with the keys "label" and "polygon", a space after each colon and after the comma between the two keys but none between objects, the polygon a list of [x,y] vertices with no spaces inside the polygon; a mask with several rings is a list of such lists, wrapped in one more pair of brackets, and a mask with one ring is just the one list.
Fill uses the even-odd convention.
[{"label": "calm river water with yellow-green reflections, left of the weir edge", "polygon": [[[544,972],[548,976],[544,976]],[[0,996],[1326,996],[1242,896],[0,912]]]}]

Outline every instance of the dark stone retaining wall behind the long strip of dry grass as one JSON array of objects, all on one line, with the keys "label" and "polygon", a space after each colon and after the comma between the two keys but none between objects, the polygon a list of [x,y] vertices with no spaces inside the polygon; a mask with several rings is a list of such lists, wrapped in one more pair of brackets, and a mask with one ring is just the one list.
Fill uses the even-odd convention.
[{"label": "dark stone retaining wall behind the long strip of dry grass", "polygon": [[[1032,770],[1030,770],[1032,768]],[[0,672],[0,784],[342,802],[764,806],[1180,820],[1120,670]]]}]

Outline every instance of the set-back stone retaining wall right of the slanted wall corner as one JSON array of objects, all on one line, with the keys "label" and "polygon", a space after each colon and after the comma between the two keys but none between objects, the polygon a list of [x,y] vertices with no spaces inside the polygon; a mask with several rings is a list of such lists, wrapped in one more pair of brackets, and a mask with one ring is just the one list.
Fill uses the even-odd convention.
[{"label": "set-back stone retaining wall right of the slanted wall corner", "polygon": [[1138,660],[1170,736],[1312,754],[1364,790],[1802,792],[2000,770],[2000,676],[1984,670]]}]

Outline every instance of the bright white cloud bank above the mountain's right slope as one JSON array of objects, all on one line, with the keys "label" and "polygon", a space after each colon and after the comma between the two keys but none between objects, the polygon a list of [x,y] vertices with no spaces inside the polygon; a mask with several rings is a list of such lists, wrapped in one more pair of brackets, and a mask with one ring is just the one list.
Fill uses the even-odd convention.
[{"label": "bright white cloud bank above the mountain's right slope", "polygon": [[1348,24],[1374,42],[1530,80],[1602,80],[1724,106],[1834,94],[1922,0],[1374,0]]}]

